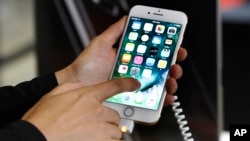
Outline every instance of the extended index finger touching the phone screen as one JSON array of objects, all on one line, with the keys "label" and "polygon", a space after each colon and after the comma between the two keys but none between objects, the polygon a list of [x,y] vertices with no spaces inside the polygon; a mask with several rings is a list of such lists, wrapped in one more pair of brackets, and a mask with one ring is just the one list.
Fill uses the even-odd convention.
[{"label": "extended index finger touching the phone screen", "polygon": [[111,96],[121,92],[134,91],[140,86],[140,82],[134,78],[117,78],[96,85],[94,89],[98,91],[93,95],[99,102],[103,102]]}]

